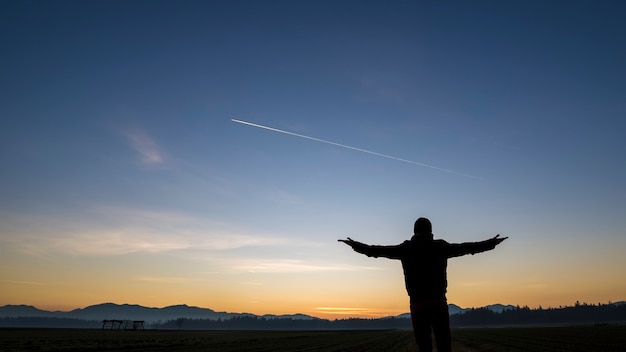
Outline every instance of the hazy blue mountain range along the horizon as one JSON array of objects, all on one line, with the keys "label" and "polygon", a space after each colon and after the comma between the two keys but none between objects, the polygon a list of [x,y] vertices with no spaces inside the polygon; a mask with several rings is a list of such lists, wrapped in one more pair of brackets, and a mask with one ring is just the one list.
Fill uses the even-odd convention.
[{"label": "hazy blue mountain range along the horizon", "polygon": [[[512,305],[493,304],[483,308],[487,308],[494,312],[501,312],[507,309],[515,308]],[[461,308],[455,304],[449,304],[448,309],[450,315],[459,314],[471,308]],[[164,308],[144,307],[137,304],[115,304],[103,303],[78,308],[68,312],[63,311],[47,311],[41,310],[29,305],[5,305],[0,307],[0,318],[16,318],[16,317],[42,317],[42,318],[70,318],[83,320],[101,321],[105,319],[116,320],[143,320],[147,324],[158,321],[175,320],[178,318],[187,319],[210,319],[225,320],[233,317],[263,317],[266,319],[295,319],[295,320],[313,320],[319,319],[306,314],[286,314],[286,315],[255,315],[251,313],[231,313],[216,312],[209,308],[200,308],[188,306],[185,304],[168,306]],[[410,317],[410,313],[404,313],[396,316],[396,318]]]}]

